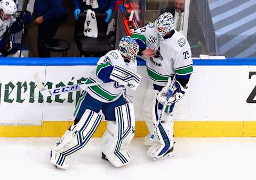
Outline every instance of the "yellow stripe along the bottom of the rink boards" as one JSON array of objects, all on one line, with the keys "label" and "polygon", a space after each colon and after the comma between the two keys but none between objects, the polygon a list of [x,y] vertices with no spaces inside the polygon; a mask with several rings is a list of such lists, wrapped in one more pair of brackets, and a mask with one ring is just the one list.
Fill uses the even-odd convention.
[{"label": "yellow stripe along the bottom of the rink boards", "polygon": [[[43,121],[41,125],[0,125],[1,137],[60,137],[73,121]],[[101,137],[107,122],[102,121],[93,137]],[[135,137],[148,134],[143,121],[135,124]],[[256,136],[256,122],[177,121],[174,122],[175,137],[239,137]]]}]

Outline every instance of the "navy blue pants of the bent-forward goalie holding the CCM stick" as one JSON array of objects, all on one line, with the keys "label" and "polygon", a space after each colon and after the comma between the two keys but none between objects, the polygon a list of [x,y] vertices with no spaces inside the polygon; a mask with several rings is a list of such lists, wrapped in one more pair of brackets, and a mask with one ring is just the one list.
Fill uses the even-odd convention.
[{"label": "navy blue pants of the bent-forward goalie holding the CCM stick", "polygon": [[83,116],[86,109],[90,109],[95,113],[99,113],[102,110],[102,113],[105,115],[105,119],[108,121],[115,121],[115,108],[118,106],[125,105],[126,101],[123,96],[119,97],[114,102],[101,102],[97,99],[94,99],[89,95],[88,92],[83,91],[81,97],[78,100],[74,115],[75,124],[79,122]]}]

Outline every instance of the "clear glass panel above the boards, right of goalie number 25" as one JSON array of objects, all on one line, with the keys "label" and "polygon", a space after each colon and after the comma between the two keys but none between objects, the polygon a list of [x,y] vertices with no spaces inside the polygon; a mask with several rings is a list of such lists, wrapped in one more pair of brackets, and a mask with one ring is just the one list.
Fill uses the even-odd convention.
[{"label": "clear glass panel above the boards, right of goalie number 25", "polygon": [[192,55],[256,57],[256,2],[247,2],[190,0],[187,39]]}]

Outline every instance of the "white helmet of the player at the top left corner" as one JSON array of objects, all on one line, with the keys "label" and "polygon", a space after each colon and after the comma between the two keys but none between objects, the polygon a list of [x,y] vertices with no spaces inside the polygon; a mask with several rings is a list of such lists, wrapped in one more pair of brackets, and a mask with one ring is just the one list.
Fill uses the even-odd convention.
[{"label": "white helmet of the player at the top left corner", "polygon": [[17,13],[17,6],[12,0],[2,0],[0,2],[1,19],[9,20],[15,17]]}]

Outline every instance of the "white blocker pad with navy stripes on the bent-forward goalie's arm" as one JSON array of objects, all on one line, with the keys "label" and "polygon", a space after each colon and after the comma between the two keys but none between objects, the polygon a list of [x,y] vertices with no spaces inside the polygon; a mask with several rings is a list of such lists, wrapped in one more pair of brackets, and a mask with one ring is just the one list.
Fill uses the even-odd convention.
[{"label": "white blocker pad with navy stripes on the bent-forward goalie's arm", "polygon": [[116,64],[109,79],[119,82],[122,85],[126,85],[132,90],[136,90],[140,84],[141,76],[124,65]]}]

